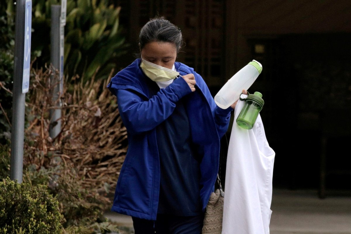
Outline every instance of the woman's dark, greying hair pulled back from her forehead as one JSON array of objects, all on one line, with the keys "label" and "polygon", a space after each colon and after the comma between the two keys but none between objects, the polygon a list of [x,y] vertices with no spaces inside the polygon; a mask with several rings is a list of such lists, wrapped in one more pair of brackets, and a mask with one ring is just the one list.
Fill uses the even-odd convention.
[{"label": "woman's dark, greying hair pulled back from her forehead", "polygon": [[183,44],[183,37],[180,29],[166,20],[164,17],[157,17],[148,21],[140,30],[139,47],[140,51],[146,44],[153,41],[171,42],[176,45],[177,52]]}]

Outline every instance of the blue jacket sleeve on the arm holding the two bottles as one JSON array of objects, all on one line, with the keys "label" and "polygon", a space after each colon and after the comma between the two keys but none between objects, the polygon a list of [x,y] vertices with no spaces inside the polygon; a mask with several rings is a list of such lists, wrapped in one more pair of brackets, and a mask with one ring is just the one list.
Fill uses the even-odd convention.
[{"label": "blue jacket sleeve on the arm holding the two bottles", "polygon": [[208,89],[203,78],[196,72],[194,72],[194,75],[196,77],[197,85],[203,91],[208,103],[210,104],[212,115],[213,115],[214,121],[216,122],[218,135],[221,138],[228,129],[229,121],[230,121],[230,113],[231,111],[233,111],[233,108],[229,107],[227,109],[222,109],[218,107],[214,102],[214,99],[212,98],[210,90]]}]

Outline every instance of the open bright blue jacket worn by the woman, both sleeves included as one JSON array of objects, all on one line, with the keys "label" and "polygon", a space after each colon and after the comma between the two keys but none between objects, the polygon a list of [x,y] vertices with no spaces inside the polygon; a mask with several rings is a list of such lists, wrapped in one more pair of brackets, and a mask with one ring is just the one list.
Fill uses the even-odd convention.
[{"label": "open bright blue jacket worn by the woman, both sleeves included", "polygon": [[205,209],[214,189],[219,165],[220,138],[228,128],[232,108],[219,108],[199,74],[176,62],[180,75],[193,73],[196,91],[184,79],[151,96],[140,59],[118,72],[108,84],[117,96],[118,109],[127,128],[128,151],[117,181],[112,211],[141,219],[156,220],[160,165],[155,127],[170,116],[177,101],[186,96],[186,112],[193,144],[203,159],[200,163],[200,199]]}]

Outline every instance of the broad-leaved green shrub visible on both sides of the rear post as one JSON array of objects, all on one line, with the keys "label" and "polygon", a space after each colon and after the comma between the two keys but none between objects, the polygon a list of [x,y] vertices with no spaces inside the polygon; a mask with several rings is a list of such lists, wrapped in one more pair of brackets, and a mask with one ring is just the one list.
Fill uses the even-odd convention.
[{"label": "broad-leaved green shrub visible on both sides of the rear post", "polygon": [[[50,60],[51,5],[58,0],[33,0],[32,53],[34,67],[44,67]],[[65,26],[64,74],[85,81],[106,79],[117,58],[126,53],[125,39],[119,30],[120,7],[108,0],[67,0]]]}]

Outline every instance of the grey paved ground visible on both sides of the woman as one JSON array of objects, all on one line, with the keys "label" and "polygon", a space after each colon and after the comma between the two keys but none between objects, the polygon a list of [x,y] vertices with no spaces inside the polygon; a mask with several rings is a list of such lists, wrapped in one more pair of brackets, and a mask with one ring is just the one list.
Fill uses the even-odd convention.
[{"label": "grey paved ground visible on both sides of the woman", "polygon": [[[273,189],[271,209],[270,234],[351,234],[351,196],[319,199],[314,190]],[[130,216],[105,216],[133,227]]]}]

